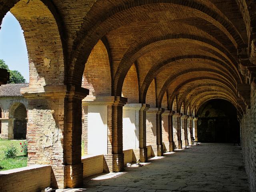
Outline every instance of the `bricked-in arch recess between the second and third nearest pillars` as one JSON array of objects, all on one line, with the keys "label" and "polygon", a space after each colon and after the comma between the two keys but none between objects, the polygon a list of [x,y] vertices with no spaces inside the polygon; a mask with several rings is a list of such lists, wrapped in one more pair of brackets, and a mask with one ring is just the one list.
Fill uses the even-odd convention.
[{"label": "bricked-in arch recess between the second and third nearest pillars", "polygon": [[131,66],[126,74],[122,87],[122,96],[128,98],[128,103],[139,102],[138,73],[135,64]]}]

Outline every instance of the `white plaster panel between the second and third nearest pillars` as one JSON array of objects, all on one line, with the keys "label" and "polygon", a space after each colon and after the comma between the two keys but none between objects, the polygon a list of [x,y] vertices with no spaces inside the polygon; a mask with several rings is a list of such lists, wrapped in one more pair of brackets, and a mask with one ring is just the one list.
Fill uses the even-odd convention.
[{"label": "white plaster panel between the second and third nearest pillars", "polygon": [[[123,150],[138,148],[138,114],[135,110],[123,110]],[[137,118],[137,120],[136,120]],[[136,123],[137,122],[137,123]]]}]

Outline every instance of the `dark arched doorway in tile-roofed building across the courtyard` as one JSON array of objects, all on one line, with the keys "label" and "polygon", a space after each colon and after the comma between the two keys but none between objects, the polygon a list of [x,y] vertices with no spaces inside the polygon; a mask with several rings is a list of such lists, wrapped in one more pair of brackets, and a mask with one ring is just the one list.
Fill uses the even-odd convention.
[{"label": "dark arched doorway in tile-roofed building across the courtyard", "polygon": [[26,139],[27,134],[27,110],[24,104],[16,103],[10,111],[10,118],[13,121],[14,139]]}]

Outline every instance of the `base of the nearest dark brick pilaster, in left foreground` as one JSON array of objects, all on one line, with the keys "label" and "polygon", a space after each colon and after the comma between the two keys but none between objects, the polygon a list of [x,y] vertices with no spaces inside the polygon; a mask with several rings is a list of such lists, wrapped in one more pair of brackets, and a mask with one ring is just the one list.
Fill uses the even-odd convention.
[{"label": "base of the nearest dark brick pilaster, in left foreground", "polygon": [[83,163],[67,165],[66,168],[66,186],[74,188],[83,185]]}]

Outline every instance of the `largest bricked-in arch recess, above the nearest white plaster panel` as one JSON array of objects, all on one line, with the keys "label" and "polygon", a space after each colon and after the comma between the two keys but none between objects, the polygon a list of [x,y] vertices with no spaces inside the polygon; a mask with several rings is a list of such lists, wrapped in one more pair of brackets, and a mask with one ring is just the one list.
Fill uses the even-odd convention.
[{"label": "largest bricked-in arch recess, above the nearest white plaster panel", "polygon": [[106,46],[99,40],[85,64],[82,87],[89,89],[89,96],[111,96],[110,60]]}]

